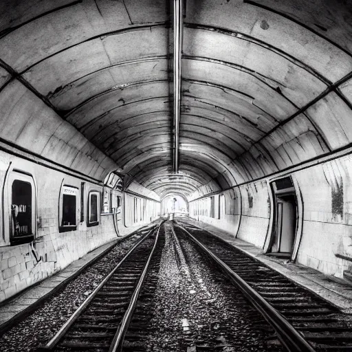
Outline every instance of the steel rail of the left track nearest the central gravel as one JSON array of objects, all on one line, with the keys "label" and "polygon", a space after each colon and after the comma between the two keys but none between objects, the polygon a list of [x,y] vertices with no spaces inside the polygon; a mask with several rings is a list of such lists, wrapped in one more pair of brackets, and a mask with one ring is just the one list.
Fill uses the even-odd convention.
[{"label": "steel rail of the left track nearest the central gravel", "polygon": [[118,327],[118,331],[116,331],[115,336],[113,337],[113,342],[111,342],[109,352],[121,352],[123,348],[124,336],[126,335],[126,331],[129,328],[129,323],[131,322],[131,318],[135,311],[135,305],[137,304],[138,296],[140,295],[140,290],[142,289],[142,285],[144,283],[144,279],[146,278],[146,273],[148,272],[149,264],[151,263],[152,256],[155,252],[155,248],[157,246],[157,240],[159,239],[159,231],[160,227],[157,229],[157,236],[155,238],[155,242],[153,245],[153,249],[151,250],[151,254],[148,256],[148,260],[144,266],[144,270],[140,276],[140,279],[135,287],[135,291],[133,292],[131,301],[129,303],[129,307],[126,309],[124,317]]}]

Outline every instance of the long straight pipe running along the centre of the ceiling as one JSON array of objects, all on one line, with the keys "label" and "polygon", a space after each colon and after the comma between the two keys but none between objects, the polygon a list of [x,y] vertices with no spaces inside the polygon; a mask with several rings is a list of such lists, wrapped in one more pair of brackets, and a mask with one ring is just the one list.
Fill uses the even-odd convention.
[{"label": "long straight pipe running along the centre of the ceiling", "polygon": [[173,171],[179,172],[179,115],[181,109],[181,56],[183,39],[183,1],[173,0]]}]

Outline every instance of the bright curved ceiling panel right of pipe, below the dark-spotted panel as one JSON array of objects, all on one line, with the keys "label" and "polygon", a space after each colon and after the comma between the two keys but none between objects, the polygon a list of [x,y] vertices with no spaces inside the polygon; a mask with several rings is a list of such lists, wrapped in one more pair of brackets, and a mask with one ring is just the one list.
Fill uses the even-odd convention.
[{"label": "bright curved ceiling panel right of pipe, below the dark-spotted panel", "polygon": [[324,89],[321,79],[309,72],[308,68],[263,45],[193,28],[186,28],[184,41],[184,54],[216,59],[257,72],[267,80],[276,82],[284,96],[292,98],[296,105],[307,104]]}]

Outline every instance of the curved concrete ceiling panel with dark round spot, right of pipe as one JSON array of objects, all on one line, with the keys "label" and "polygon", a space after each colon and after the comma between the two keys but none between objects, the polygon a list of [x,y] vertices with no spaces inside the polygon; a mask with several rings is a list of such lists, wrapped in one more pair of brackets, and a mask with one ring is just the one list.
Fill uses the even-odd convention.
[{"label": "curved concrete ceiling panel with dark round spot, right of pipe", "polygon": [[[300,3],[302,1],[300,0]],[[314,5],[309,5],[310,8],[329,8],[330,1],[318,0],[312,3]],[[346,7],[341,4],[338,6],[346,16]],[[296,12],[296,1],[290,1],[290,8]],[[302,12],[307,9],[307,5],[303,5],[303,9]],[[329,14],[329,17],[331,16],[334,15]],[[344,36],[351,33],[348,18],[347,15],[342,23],[336,23],[337,27],[343,30]],[[281,14],[241,0],[190,1],[187,4],[186,23],[219,28],[224,32],[230,30],[245,40],[261,41],[263,45],[270,45],[305,63],[331,82],[336,82],[352,70],[350,54],[327,39],[317,36],[305,26]]]}]

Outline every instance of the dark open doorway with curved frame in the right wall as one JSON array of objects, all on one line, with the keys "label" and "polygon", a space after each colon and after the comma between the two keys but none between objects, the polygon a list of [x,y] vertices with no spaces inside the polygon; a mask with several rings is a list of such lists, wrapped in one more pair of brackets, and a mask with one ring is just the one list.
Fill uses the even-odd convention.
[{"label": "dark open doorway with curved frame in the right wall", "polygon": [[297,199],[290,177],[272,182],[275,224],[268,255],[291,259],[297,228]]}]

